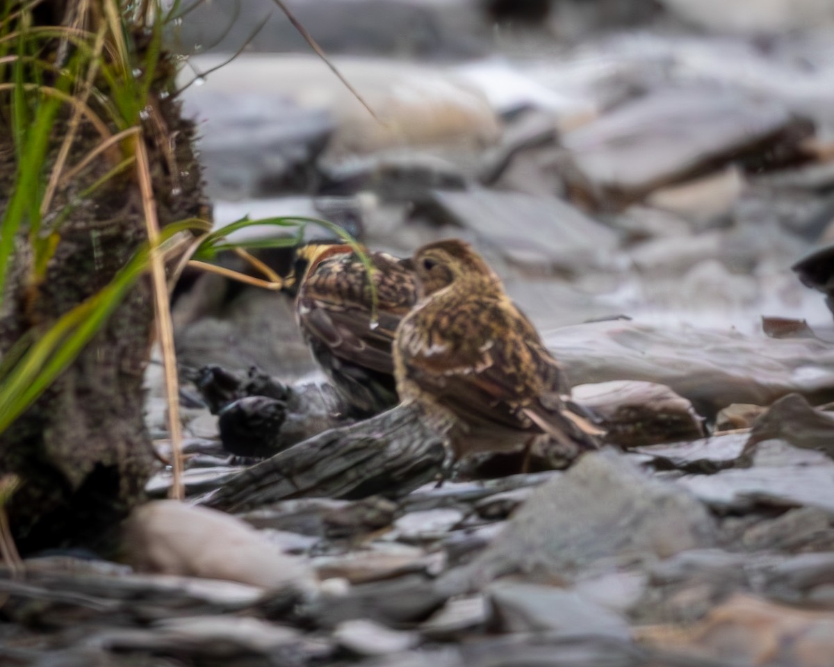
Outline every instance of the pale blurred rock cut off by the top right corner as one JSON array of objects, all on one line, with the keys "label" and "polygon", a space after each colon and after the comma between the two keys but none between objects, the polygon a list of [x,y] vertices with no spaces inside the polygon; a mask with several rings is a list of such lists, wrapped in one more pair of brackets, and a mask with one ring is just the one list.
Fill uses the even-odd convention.
[{"label": "pale blurred rock cut off by the top right corner", "polygon": [[784,34],[800,28],[834,23],[834,8],[826,0],[661,0],[673,13],[701,28],[719,33]]}]

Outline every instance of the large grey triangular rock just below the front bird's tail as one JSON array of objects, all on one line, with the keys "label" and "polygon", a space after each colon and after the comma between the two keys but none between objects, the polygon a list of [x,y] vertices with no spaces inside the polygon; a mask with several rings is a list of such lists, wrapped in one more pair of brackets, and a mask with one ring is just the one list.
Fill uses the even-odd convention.
[{"label": "large grey triangular rock just below the front bird's tail", "polygon": [[536,489],[493,544],[440,586],[515,572],[570,580],[600,559],[666,558],[713,539],[712,519],[691,494],[647,478],[612,451],[590,453]]}]

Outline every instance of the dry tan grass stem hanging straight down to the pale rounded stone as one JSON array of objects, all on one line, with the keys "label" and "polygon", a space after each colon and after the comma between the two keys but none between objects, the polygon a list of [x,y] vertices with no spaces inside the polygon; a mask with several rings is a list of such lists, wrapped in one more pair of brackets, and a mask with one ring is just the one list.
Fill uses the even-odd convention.
[{"label": "dry tan grass stem hanging straight down to the pale rounded stone", "polygon": [[143,137],[134,138],[136,145],[136,166],[139,178],[139,189],[142,192],[142,207],[145,214],[145,225],[148,230],[148,241],[153,248],[151,251],[151,273],[153,276],[154,303],[156,304],[156,323],[159,344],[162,347],[162,358],[165,369],[165,393],[168,398],[168,429],[171,434],[171,458],[173,459],[173,485],[171,495],[182,500],[183,491],[183,433],[179,421],[179,385],[177,378],[177,357],[173,347],[173,323],[171,322],[171,304],[168,301],[168,283],[165,281],[165,267],[158,248],[159,223],[156,214],[156,202],[153,198],[153,183],[151,182],[148,151]]}]

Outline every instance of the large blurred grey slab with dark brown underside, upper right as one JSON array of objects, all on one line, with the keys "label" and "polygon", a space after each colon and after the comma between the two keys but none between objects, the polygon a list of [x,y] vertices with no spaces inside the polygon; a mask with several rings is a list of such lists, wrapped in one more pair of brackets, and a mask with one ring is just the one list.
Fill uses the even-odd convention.
[{"label": "large blurred grey slab with dark brown underside, upper right", "polygon": [[761,149],[791,123],[788,109],[726,89],[663,90],[566,133],[580,179],[600,197],[641,198]]}]

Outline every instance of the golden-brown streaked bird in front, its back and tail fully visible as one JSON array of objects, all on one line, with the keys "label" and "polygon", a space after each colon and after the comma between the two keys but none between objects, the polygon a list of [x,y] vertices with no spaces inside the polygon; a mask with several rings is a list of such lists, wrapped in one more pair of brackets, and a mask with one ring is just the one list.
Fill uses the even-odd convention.
[{"label": "golden-brown streaked bird in front, its back and tail fully visible", "polygon": [[396,332],[397,389],[445,432],[455,459],[529,454],[539,439],[596,449],[599,432],[562,402],[560,365],[487,263],[457,239],[425,245],[413,261],[420,298]]}]

